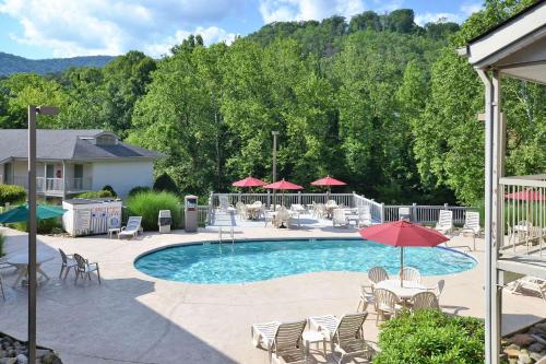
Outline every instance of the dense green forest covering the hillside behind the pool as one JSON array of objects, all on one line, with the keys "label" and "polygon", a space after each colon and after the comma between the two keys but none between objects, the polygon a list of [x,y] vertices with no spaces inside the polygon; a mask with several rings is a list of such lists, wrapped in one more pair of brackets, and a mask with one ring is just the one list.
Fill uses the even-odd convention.
[{"label": "dense green forest covering the hillside behind the pool", "polygon": [[[263,26],[232,45],[190,36],[170,54],[140,51],[104,68],[0,79],[0,128],[95,128],[168,157],[181,193],[232,189],[249,174],[307,188],[332,175],[384,203],[476,203],[483,196],[484,90],[455,49],[529,5],[486,0],[463,24],[415,24],[410,9]],[[544,173],[546,87],[503,80],[507,174]],[[310,188],[308,188],[310,189]],[[340,189],[342,191],[342,189]]]}]

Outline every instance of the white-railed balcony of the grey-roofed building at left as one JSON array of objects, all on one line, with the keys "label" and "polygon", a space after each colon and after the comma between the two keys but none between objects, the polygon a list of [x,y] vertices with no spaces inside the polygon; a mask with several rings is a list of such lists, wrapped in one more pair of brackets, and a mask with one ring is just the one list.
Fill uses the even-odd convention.
[{"label": "white-railed balcony of the grey-roofed building at left", "polygon": [[[28,189],[26,176],[14,176],[7,185],[17,185]],[[36,177],[36,192],[46,196],[63,196],[64,193],[79,193],[92,190],[92,178],[46,178]]]}]

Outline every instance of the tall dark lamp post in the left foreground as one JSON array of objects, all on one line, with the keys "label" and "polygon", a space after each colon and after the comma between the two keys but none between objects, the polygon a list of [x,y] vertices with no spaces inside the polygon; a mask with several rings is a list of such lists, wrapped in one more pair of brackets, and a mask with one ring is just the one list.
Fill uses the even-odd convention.
[{"label": "tall dark lamp post in the left foreground", "polygon": [[28,105],[28,363],[36,362],[36,115],[57,115],[55,106]]}]

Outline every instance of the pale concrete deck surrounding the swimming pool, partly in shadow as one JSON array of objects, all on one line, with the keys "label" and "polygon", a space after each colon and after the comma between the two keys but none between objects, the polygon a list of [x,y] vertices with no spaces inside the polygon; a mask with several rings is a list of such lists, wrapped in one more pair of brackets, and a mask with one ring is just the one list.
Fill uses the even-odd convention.
[{"label": "pale concrete deck surrounding the swimming pool, partly in shadow", "polygon": [[[26,251],[26,235],[0,227],[9,255]],[[98,237],[39,236],[39,250],[52,260],[43,265],[50,280],[38,289],[38,343],[57,350],[63,363],[268,363],[265,351],[250,342],[250,326],[271,320],[343,315],[356,309],[366,273],[319,272],[245,284],[188,284],[163,281],[138,271],[134,259],[151,249],[178,243],[217,240],[217,232],[145,233],[135,240]],[[236,238],[355,237],[354,228],[245,227]],[[470,246],[454,237],[451,246]],[[74,285],[73,273],[59,280],[57,248],[98,261],[96,277]],[[484,317],[483,239],[476,268],[446,277],[426,277],[434,286],[446,279],[440,304],[447,313]],[[0,300],[0,331],[26,338],[26,289],[11,287],[15,274],[2,270],[7,301]],[[503,332],[546,317],[546,304],[533,296],[503,294]],[[376,341],[375,313],[365,337]],[[331,356],[328,359],[331,361]],[[327,363],[316,355],[318,363]],[[328,363],[330,363],[328,362]]]}]

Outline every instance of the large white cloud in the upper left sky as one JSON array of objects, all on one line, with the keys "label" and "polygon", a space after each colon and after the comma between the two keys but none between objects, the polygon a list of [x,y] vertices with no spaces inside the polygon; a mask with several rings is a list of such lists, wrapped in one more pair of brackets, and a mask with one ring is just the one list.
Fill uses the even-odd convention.
[{"label": "large white cloud in the upper left sky", "polygon": [[[151,56],[187,35],[202,34],[206,44],[233,42],[235,34],[215,25],[245,0],[0,0],[0,14],[17,20],[22,44],[50,48],[56,57],[119,55],[143,49]],[[185,37],[180,38],[183,34]]]}]

